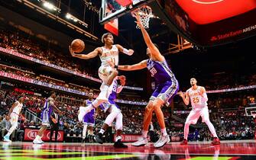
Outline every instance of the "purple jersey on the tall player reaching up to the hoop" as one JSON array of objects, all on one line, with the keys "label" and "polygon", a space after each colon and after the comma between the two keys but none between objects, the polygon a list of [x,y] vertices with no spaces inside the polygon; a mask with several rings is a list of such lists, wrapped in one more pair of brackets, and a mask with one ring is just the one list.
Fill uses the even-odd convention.
[{"label": "purple jersey on the tall player reaching up to the hoop", "polygon": [[154,77],[157,85],[167,81],[177,81],[173,72],[167,65],[166,60],[164,62],[154,61],[152,59],[147,60],[147,69],[151,72],[151,76]]}]

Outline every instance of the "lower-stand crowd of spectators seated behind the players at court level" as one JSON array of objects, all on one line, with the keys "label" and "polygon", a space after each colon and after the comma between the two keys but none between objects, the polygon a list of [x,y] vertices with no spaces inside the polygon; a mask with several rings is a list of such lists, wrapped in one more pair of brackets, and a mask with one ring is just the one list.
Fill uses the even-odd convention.
[{"label": "lower-stand crowd of spectators seated behind the players at court level", "polygon": [[[2,91],[4,92],[4,91]],[[13,91],[8,94],[1,95],[1,110],[0,120],[5,119],[8,108],[17,98],[19,93]],[[5,97],[5,98],[4,98]],[[37,95],[29,95],[24,102],[24,110],[32,110],[37,116],[40,116],[41,109],[44,105],[45,98]],[[65,133],[81,135],[83,130],[83,123],[79,123],[77,120],[77,112],[79,106],[64,104],[57,101],[57,106],[60,110],[63,110],[63,116],[60,118],[60,130],[64,130]],[[122,108],[123,120],[124,120],[124,133],[139,134],[141,133],[141,124],[144,116],[144,107],[134,107],[131,105],[120,105]],[[164,117],[167,124],[167,132],[170,136],[183,137],[183,122],[174,120],[169,108],[165,107]],[[189,113],[189,112],[188,112]],[[182,120],[186,120],[188,114],[173,114]],[[103,120],[105,120],[105,114],[101,111],[96,120],[95,131],[98,131],[102,126]],[[211,110],[210,120],[212,121],[217,134],[220,139],[253,139],[254,138],[254,119],[252,117],[245,116],[245,108],[237,107],[236,110],[225,110],[222,108],[219,110]],[[154,131],[158,133],[159,126],[157,125],[157,118],[153,114],[152,122],[154,124]],[[173,123],[180,123],[181,126],[173,126]],[[39,127],[41,124],[39,121],[34,122],[21,120],[19,123],[20,130],[24,127]],[[113,124],[115,126],[115,123]],[[190,127],[190,140],[209,140],[211,139],[211,133],[207,126],[199,119],[196,126]]]}]

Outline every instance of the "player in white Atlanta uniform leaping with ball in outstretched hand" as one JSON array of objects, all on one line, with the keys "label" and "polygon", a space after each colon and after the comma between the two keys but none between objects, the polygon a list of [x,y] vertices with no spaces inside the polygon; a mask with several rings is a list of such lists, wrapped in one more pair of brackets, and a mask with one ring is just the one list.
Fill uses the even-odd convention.
[{"label": "player in white Atlanta uniform leaping with ball in outstretched hand", "polygon": [[102,65],[99,67],[99,78],[102,79],[102,85],[100,87],[100,93],[98,98],[92,102],[88,107],[83,110],[79,110],[78,120],[81,122],[83,117],[89,113],[95,107],[98,107],[103,102],[107,102],[109,98],[109,86],[112,85],[114,78],[118,75],[118,71],[109,66],[107,61],[112,61],[115,65],[118,65],[118,53],[122,52],[131,56],[134,53],[134,50],[127,50],[124,47],[113,44],[114,38],[112,34],[106,33],[102,35],[102,43],[104,46],[96,48],[91,53],[88,54],[76,54],[73,52],[70,47],[70,53],[72,56],[79,59],[92,59],[96,56],[102,61]]}]

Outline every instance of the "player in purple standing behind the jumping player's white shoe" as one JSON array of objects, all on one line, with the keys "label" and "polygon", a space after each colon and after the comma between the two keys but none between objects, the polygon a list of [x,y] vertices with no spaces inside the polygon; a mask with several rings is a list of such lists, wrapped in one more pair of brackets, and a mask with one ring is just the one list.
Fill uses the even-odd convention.
[{"label": "player in purple standing behind the jumping player's white shoe", "polygon": [[[88,100],[83,101],[83,106],[86,107],[89,104],[92,104],[93,101],[93,93],[92,91],[89,92],[88,94]],[[93,137],[93,127],[95,126],[95,114],[96,114],[96,109],[92,109],[86,116],[83,117],[83,142],[86,142],[86,130],[88,126],[88,138],[92,139]]]}]

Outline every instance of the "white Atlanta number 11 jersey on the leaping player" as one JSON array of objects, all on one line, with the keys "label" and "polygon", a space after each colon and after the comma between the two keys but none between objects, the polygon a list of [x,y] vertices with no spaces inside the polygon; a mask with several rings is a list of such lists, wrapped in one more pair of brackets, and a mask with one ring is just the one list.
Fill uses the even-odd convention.
[{"label": "white Atlanta number 11 jersey on the leaping player", "polygon": [[108,61],[112,61],[115,65],[118,65],[118,47],[112,45],[112,49],[106,49],[102,46],[102,55],[99,56],[102,61],[102,66],[109,66]]}]

